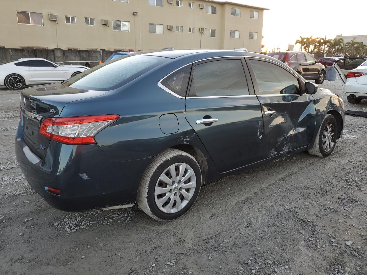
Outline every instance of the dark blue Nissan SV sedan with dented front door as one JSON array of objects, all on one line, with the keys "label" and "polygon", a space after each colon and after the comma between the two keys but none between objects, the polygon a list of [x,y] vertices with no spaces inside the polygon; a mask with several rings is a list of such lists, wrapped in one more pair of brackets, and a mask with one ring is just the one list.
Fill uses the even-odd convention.
[{"label": "dark blue Nissan SV sedan with dented front door", "polygon": [[[127,55],[21,92],[15,153],[67,211],[139,207],[176,219],[200,187],[287,155],[330,155],[344,103],[270,56],[224,50]],[[310,172],[312,167],[310,167]]]}]

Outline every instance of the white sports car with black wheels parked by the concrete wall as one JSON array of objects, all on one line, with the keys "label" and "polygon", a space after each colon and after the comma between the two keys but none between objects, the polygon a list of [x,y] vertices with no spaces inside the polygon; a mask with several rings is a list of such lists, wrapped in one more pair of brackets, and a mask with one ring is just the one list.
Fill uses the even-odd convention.
[{"label": "white sports car with black wheels parked by the concrete wall", "polygon": [[0,64],[0,85],[18,90],[25,85],[64,81],[88,69],[86,66],[59,66],[43,58],[21,58]]}]

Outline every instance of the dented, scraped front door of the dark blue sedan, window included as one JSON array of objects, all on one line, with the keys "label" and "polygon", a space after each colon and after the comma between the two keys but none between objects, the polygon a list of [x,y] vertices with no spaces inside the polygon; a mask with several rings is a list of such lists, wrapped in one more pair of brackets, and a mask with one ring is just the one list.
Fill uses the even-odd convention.
[{"label": "dented, scraped front door of the dark blue sedan, window included", "polygon": [[303,81],[270,60],[248,58],[247,62],[261,103],[264,158],[308,146],[315,133],[316,110]]}]

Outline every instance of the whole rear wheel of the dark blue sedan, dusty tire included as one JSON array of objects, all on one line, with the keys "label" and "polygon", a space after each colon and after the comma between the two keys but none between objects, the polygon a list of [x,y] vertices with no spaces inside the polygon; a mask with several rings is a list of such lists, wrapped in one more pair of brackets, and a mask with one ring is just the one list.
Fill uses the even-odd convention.
[{"label": "whole rear wheel of the dark blue sedan, dusty tire included", "polygon": [[[170,171],[173,171],[171,167],[176,168],[174,173],[177,182],[170,179]],[[180,173],[182,168],[184,170]],[[180,175],[181,179],[189,177],[182,183]],[[169,181],[173,184],[167,184]],[[182,188],[182,185],[190,188]],[[146,169],[138,189],[137,203],[153,219],[174,220],[185,214],[195,203],[200,187],[201,169],[196,159],[184,151],[168,149],[159,154]]]}]

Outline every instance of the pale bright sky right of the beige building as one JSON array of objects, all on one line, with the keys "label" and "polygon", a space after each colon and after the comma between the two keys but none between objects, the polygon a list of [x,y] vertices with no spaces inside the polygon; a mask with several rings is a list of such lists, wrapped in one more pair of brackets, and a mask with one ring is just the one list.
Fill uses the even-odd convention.
[{"label": "pale bright sky right of the beige building", "polygon": [[[220,0],[219,0],[220,1]],[[264,7],[262,44],[268,51],[280,51],[294,44],[299,36],[335,38],[336,35],[367,35],[367,1],[274,1],[229,0]],[[342,19],[342,21],[341,21]],[[265,50],[263,48],[263,50]],[[294,48],[299,50],[299,46]]]}]

